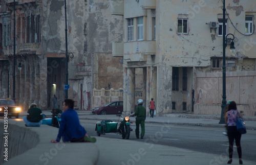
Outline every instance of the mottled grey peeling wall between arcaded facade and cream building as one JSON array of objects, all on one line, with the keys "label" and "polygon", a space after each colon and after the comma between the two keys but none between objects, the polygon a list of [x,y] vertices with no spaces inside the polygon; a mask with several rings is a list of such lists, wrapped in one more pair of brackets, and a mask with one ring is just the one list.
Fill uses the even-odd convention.
[{"label": "mottled grey peeling wall between arcaded facade and cream building", "polygon": [[[43,3],[46,25],[45,54],[63,56],[66,52],[64,1]],[[94,56],[97,53],[106,53],[106,56],[102,54],[99,58],[102,62],[106,59],[106,64],[109,64],[106,70],[102,70],[102,75],[110,75],[117,69],[122,71],[122,67],[111,67],[111,64],[119,59],[112,61],[112,58],[107,57],[112,52],[112,41],[122,40],[122,17],[111,16],[110,1],[67,1],[67,29],[68,53],[74,55],[73,58],[69,58],[68,97],[75,100],[77,109],[80,109],[81,104],[82,109],[90,109],[92,89],[95,85],[105,87],[108,85],[105,82],[109,81],[112,82],[113,88],[120,86],[113,83],[120,78],[106,79],[105,76],[101,76],[94,79],[95,74],[99,73]],[[65,68],[62,70],[65,72]]]}]

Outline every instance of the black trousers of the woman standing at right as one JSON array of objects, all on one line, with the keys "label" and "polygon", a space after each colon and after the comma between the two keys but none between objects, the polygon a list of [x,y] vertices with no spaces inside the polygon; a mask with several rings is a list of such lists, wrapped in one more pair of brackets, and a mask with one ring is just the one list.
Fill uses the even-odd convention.
[{"label": "black trousers of the woman standing at right", "polygon": [[227,136],[228,136],[228,142],[229,142],[229,148],[228,148],[229,158],[232,158],[234,140],[236,140],[238,156],[241,159],[242,158],[242,148],[241,148],[240,142],[241,142],[242,134],[238,132],[237,126],[228,126],[227,127]]}]

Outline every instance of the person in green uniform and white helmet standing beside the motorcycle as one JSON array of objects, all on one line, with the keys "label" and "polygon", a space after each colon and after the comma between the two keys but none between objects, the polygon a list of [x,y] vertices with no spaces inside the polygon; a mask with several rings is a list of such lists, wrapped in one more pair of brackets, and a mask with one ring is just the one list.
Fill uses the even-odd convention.
[{"label": "person in green uniform and white helmet standing beside the motorcycle", "polygon": [[135,129],[135,134],[136,137],[139,138],[140,134],[140,126],[141,126],[141,134],[140,138],[142,139],[145,135],[145,119],[146,119],[146,108],[142,106],[143,100],[139,99],[138,100],[138,106],[135,109],[135,113],[132,116],[137,116],[136,117],[136,129]]}]

